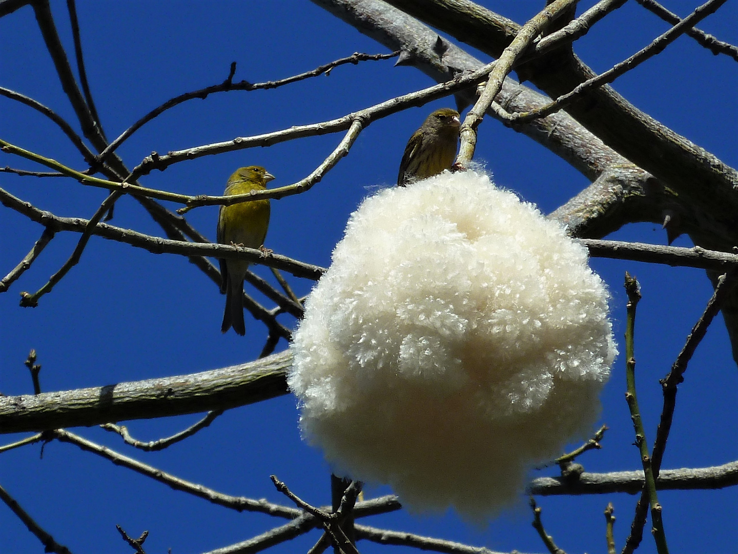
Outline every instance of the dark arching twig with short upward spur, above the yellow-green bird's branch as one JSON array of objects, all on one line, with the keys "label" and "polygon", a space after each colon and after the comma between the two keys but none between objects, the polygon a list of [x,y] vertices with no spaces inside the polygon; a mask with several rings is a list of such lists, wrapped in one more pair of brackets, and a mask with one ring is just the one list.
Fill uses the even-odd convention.
[{"label": "dark arching twig with short upward spur, above the yellow-green bird's branch", "polygon": [[280,79],[278,81],[266,81],[266,83],[249,83],[248,81],[241,81],[240,83],[233,83],[232,78],[233,74],[235,73],[235,63],[231,64],[231,72],[228,76],[228,78],[221,84],[208,86],[204,89],[199,89],[193,92],[185,92],[183,95],[176,96],[175,98],[171,98],[170,100],[167,100],[165,103],[163,103],[161,106],[157,106],[151,112],[148,112],[148,114],[145,114],[145,116],[141,117],[136,123],[128,127],[128,129],[125,129],[123,133],[120,134],[120,137],[117,137],[112,143],[108,145],[108,147],[100,152],[100,155],[98,156],[99,160],[105,160],[108,154],[110,154],[112,151],[116,150],[118,146],[123,143],[124,140],[127,140],[128,137],[131,137],[132,134],[134,134],[136,131],[138,131],[142,126],[144,126],[149,121],[153,120],[154,117],[159,116],[166,110],[173,108],[174,106],[178,106],[179,104],[186,102],[187,100],[192,100],[193,98],[200,98],[204,100],[204,98],[207,98],[208,95],[212,95],[215,92],[227,92],[232,90],[246,90],[246,91],[252,91],[252,90],[258,90],[258,89],[276,89],[279,86],[284,86],[290,83],[296,83],[297,81],[303,81],[304,79],[308,79],[311,77],[317,77],[318,75],[330,75],[331,69],[334,69],[335,67],[342,66],[344,64],[358,64],[360,61],[370,61],[370,60],[388,60],[390,58],[396,58],[396,56],[399,55],[399,52],[392,52],[391,54],[362,54],[361,52],[354,52],[354,54],[348,56],[347,58],[340,58],[336,61],[331,61],[329,64],[324,64],[322,66],[318,66],[317,68],[300,73],[300,75],[293,75],[292,77],[288,77],[285,79]]}]

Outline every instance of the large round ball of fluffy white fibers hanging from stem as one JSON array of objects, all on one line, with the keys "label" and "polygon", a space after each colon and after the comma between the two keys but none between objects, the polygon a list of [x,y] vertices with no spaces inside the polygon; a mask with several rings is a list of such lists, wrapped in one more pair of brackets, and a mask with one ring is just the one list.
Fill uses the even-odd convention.
[{"label": "large round ball of fluffy white fibers hanging from stem", "polygon": [[294,335],[303,436],[411,510],[480,521],[586,437],[616,354],[587,251],[472,171],[351,216]]}]

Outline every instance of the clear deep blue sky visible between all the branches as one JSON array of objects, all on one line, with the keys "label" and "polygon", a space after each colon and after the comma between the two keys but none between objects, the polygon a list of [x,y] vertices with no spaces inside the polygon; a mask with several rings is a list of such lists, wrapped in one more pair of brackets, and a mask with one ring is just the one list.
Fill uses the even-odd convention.
[{"label": "clear deep blue sky visible between all the branches", "polygon": [[[542,1],[483,2],[523,23]],[[591,2],[582,3],[582,8]],[[696,4],[665,0],[686,16]],[[52,0],[59,33],[72,55],[66,3]],[[226,78],[238,62],[235,80],[283,78],[353,52],[385,52],[310,2],[187,1],[95,2],[77,7],[89,82],[108,137],[117,136],[149,109],[182,92]],[[718,38],[738,43],[738,7],[728,3],[700,24]],[[667,25],[628,2],[578,41],[576,52],[597,71],[644,47]],[[0,85],[51,106],[67,120],[75,116],[63,95],[30,7],[0,19]],[[486,60],[483,55],[480,59]],[[614,83],[615,89],[725,163],[738,165],[736,126],[738,66],[714,57],[692,39],[682,37],[657,58]],[[393,61],[343,66],[330,77],[282,89],[229,92],[191,100],[166,112],[134,135],[119,153],[129,167],[151,151],[165,152],[237,136],[316,123],[379,103],[432,84],[418,70],[394,68]],[[272,202],[266,246],[275,252],[327,265],[342,236],[349,213],[377,187],[393,185],[404,143],[432,109],[453,105],[441,100],[373,123],[348,158],[323,182],[300,196]],[[75,126],[77,127],[77,126]],[[83,169],[79,154],[44,117],[0,98],[0,137],[18,146]],[[144,177],[143,185],[187,194],[220,194],[230,173],[241,165],[264,165],[287,185],[305,177],[339,141],[339,135],[313,137],[272,148],[232,152],[181,163]],[[480,126],[477,160],[486,162],[499,185],[517,191],[548,212],[587,185],[565,162],[523,135],[494,120]],[[35,169],[8,154],[0,165]],[[106,196],[69,179],[36,179],[0,174],[0,186],[60,216],[89,217]],[[171,208],[178,206],[172,205]],[[199,208],[187,219],[215,239],[217,208]],[[118,202],[114,225],[162,235],[151,218],[130,198]],[[0,273],[7,273],[41,235],[42,228],[23,216],[0,209]],[[613,238],[665,244],[658,225],[632,225]],[[18,307],[18,293],[35,291],[72,252],[78,236],[60,233],[32,268],[0,295],[0,391],[32,392],[23,361],[31,348],[42,364],[44,391],[99,386],[146,377],[179,375],[252,360],[266,337],[265,329],[246,315],[245,338],[221,335],[224,297],[195,266],[178,256],[154,256],[125,244],[93,237],[75,267],[35,309]],[[691,245],[680,238],[677,245]],[[701,270],[655,267],[630,261],[594,259],[593,267],[610,284],[613,319],[619,342],[624,330],[622,281],[626,270],[641,281],[636,355],[639,394],[646,434],[653,440],[661,412],[663,377],[711,294]],[[264,267],[256,271],[273,278]],[[292,278],[299,294],[311,282]],[[250,291],[249,291],[250,292]],[[258,293],[255,294],[257,298]],[[269,307],[269,301],[261,300]],[[294,326],[290,316],[280,316]],[[277,350],[286,348],[281,341]],[[622,349],[621,349],[622,350]],[[610,426],[601,451],[580,460],[587,471],[640,467],[632,446],[633,432],[624,401],[624,357],[602,396],[603,423]],[[738,375],[731,360],[722,318],[697,351],[680,387],[672,436],[663,468],[718,465],[738,458],[735,403]],[[132,422],[131,432],[154,440],[190,425],[197,415]],[[329,501],[329,468],[319,451],[300,441],[293,397],[228,411],[195,437],[166,451],[145,454],[126,447],[116,435],[99,428],[77,430],[91,440],[224,493],[266,497],[284,502],[269,481],[275,473],[308,502]],[[20,435],[3,437],[4,442]],[[150,535],[148,553],[199,553],[262,533],[283,520],[236,513],[175,492],[142,476],[117,468],[75,446],[54,442],[0,455],[0,484],[57,541],[75,553],[130,552],[115,530],[121,524],[132,536]],[[494,471],[494,468],[490,468]],[[387,488],[369,488],[370,495]],[[735,490],[663,492],[663,518],[672,553],[736,552],[738,521]],[[632,520],[635,497],[625,494],[579,498],[542,498],[547,530],[569,553],[603,552],[607,502],[615,505],[615,535],[622,547]],[[453,513],[415,516],[404,512],[362,522],[378,527],[438,536],[492,550],[542,552],[523,503],[489,527],[477,528]],[[647,532],[641,551],[655,552]],[[317,532],[276,547],[276,552],[306,551]],[[359,550],[380,547],[362,541]],[[392,550],[397,550],[393,548]],[[0,552],[40,552],[41,545],[4,505],[0,505]]]}]

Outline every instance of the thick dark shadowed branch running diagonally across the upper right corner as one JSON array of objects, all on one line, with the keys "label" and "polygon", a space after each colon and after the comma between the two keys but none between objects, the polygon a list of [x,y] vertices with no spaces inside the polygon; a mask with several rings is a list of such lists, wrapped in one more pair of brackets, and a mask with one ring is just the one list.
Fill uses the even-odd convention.
[{"label": "thick dark shadowed branch running diagonally across the upper right corner", "polygon": [[[469,0],[389,0],[433,27],[498,58],[520,26]],[[504,37],[504,38],[503,38]],[[596,74],[574,55],[556,51],[528,64],[531,83],[558,98]],[[520,72],[520,70],[519,70]],[[708,201],[717,219],[738,224],[738,171],[632,106],[609,86],[593,89],[567,111],[587,129],[638,164],[668,182],[685,201]]]}]

